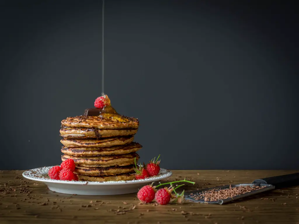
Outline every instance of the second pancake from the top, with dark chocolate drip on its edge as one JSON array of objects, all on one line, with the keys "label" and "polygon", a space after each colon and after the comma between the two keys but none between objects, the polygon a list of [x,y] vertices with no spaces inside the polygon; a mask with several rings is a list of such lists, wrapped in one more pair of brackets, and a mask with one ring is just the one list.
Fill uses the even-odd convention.
[{"label": "second pancake from the top, with dark chocolate drip on its edge", "polygon": [[128,136],[137,133],[138,129],[98,129],[62,127],[60,135],[68,139],[99,139],[115,136]]}]

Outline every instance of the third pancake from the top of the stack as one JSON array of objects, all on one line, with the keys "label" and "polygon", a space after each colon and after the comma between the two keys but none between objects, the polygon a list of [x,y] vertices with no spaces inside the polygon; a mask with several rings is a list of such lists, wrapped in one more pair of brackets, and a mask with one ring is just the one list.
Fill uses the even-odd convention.
[{"label": "third pancake from the top of the stack", "polygon": [[134,140],[134,136],[114,137],[104,139],[61,139],[66,147],[110,147],[114,145],[126,145]]}]

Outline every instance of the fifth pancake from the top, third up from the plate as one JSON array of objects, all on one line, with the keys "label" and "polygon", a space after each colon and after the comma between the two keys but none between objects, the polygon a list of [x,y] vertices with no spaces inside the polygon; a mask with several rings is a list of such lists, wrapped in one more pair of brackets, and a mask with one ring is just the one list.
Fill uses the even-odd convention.
[{"label": "fifth pancake from the top, third up from the plate", "polygon": [[69,155],[62,155],[61,160],[73,159],[78,166],[85,167],[109,167],[109,166],[128,166],[134,164],[134,160],[138,160],[140,157],[137,153],[129,153],[124,155],[113,156],[98,156],[98,157],[74,157]]}]

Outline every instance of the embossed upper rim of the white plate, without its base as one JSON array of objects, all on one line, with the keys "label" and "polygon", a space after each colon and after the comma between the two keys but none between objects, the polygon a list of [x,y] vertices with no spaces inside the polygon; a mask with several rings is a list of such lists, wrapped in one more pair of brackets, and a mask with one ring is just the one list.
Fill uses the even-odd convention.
[{"label": "embossed upper rim of the white plate, without its base", "polygon": [[[86,185],[88,182],[88,185],[123,185],[123,184],[140,184],[140,183],[148,183],[148,182],[156,182],[158,180],[166,179],[168,177],[172,176],[172,172],[167,169],[160,169],[160,173],[156,177],[150,177],[146,179],[141,179],[141,180],[127,180],[127,181],[105,181],[105,182],[97,182],[97,181],[67,181],[67,180],[54,180],[54,179],[48,179],[48,178],[41,178],[41,177],[30,177],[28,176],[27,172],[32,172],[32,171],[39,171],[39,175],[45,175],[48,174],[48,170],[53,167],[53,166],[47,166],[47,167],[39,167],[39,168],[34,168],[30,170],[26,170],[23,172],[22,176],[25,177],[26,179],[34,180],[34,181],[41,181],[45,183],[57,183],[57,184],[72,184],[72,185]],[[33,175],[33,174],[31,174]]]}]

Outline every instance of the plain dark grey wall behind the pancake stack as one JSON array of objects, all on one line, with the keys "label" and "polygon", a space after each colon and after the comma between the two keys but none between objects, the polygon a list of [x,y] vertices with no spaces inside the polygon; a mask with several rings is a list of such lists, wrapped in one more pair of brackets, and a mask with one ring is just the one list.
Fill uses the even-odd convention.
[{"label": "plain dark grey wall behind the pancake stack", "polygon": [[[295,9],[106,0],[105,93],[140,119],[141,161],[298,169]],[[60,164],[60,121],[101,94],[101,1],[1,1],[0,14],[0,169]]]}]

